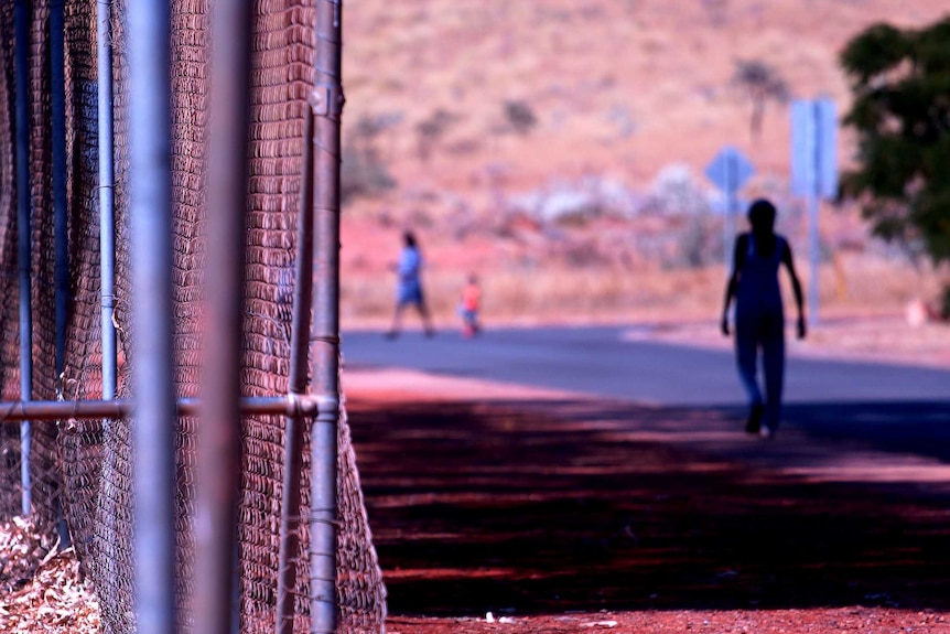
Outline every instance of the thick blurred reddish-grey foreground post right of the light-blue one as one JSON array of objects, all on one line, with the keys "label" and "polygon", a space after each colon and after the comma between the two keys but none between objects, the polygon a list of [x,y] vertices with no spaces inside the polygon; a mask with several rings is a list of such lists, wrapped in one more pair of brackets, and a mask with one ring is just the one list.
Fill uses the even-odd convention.
[{"label": "thick blurred reddish-grey foreground post right of the light-blue one", "polygon": [[195,632],[229,634],[238,588],[237,506],[241,469],[245,225],[250,108],[251,2],[212,9],[208,251],[205,279],[204,408],[195,511]]}]

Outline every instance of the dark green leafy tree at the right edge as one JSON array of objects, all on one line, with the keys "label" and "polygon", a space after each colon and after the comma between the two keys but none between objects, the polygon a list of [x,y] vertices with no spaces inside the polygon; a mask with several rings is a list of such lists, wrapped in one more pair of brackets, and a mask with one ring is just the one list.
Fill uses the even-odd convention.
[{"label": "dark green leafy tree at the right edge", "polygon": [[841,64],[854,93],[844,123],[859,140],[846,193],[878,236],[950,261],[950,18],[920,30],[871,26]]}]

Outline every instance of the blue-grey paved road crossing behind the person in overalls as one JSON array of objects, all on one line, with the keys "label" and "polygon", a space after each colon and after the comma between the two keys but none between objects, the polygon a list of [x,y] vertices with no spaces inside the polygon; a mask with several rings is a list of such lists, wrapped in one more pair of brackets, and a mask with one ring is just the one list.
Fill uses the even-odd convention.
[{"label": "blue-grey paved road crossing behind the person in overalls", "polygon": [[[663,406],[740,406],[733,355],[648,341],[625,327],[492,330],[475,340],[419,332],[388,341],[379,332],[344,333],[350,367],[407,367],[518,383]],[[790,356],[787,404],[950,404],[950,372],[906,365]]]}]

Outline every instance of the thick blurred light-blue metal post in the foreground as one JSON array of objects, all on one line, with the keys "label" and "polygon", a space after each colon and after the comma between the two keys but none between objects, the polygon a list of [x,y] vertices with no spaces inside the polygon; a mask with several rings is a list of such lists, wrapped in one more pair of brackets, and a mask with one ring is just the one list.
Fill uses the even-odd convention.
[{"label": "thick blurred light-blue metal post in the foreground", "polygon": [[130,215],[134,307],[136,615],[139,634],[175,616],[175,388],[172,312],[170,9],[128,3]]}]

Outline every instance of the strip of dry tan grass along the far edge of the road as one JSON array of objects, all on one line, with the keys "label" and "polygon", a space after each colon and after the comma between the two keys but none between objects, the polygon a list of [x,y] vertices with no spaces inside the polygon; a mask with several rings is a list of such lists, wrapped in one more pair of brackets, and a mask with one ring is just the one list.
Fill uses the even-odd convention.
[{"label": "strip of dry tan grass along the far edge of the road", "polygon": [[[908,302],[932,297],[940,275],[867,257],[841,258],[821,268],[823,316],[900,316]],[[801,267],[802,264],[800,262]],[[799,271],[808,288],[808,270]],[[786,303],[791,292],[786,282]],[[424,287],[438,323],[454,325],[465,270],[430,271]],[[685,322],[715,320],[722,309],[725,270],[618,270],[563,265],[528,270],[487,270],[481,276],[484,319],[488,323]],[[379,326],[389,319],[395,297],[391,275],[344,275],[344,326]]]}]

